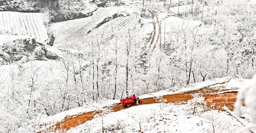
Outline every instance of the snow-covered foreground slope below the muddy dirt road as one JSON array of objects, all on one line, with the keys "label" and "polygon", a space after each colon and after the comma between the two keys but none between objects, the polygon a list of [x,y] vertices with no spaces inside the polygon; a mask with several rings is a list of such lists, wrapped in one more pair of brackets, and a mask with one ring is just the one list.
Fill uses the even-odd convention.
[{"label": "snow-covered foreground slope below the muddy dirt road", "polygon": [[[72,128],[67,133],[100,133],[101,117]],[[212,126],[214,125],[214,127]],[[243,126],[228,113],[211,110],[197,115],[186,112],[186,105],[159,104],[133,106],[103,116],[108,133],[215,133],[237,130]]]}]

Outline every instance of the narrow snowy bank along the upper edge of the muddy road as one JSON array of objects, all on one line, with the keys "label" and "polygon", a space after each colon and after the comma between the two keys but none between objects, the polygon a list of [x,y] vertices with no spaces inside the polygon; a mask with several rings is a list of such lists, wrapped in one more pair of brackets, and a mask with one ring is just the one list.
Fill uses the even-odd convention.
[{"label": "narrow snowy bank along the upper edge of the muddy road", "polygon": [[[139,97],[140,97],[140,99],[144,99],[144,98],[156,97],[156,96],[161,96],[161,95],[183,93],[183,92],[187,92],[187,91],[198,90],[198,89],[200,89],[202,87],[206,87],[206,86],[212,87],[212,85],[213,86],[225,86],[226,88],[229,88],[229,89],[232,89],[232,88],[236,89],[236,88],[243,87],[244,82],[247,82],[247,81],[249,81],[249,80],[240,80],[240,79],[232,79],[230,77],[224,77],[224,78],[218,78],[218,79],[207,80],[204,82],[194,83],[189,86],[182,87],[182,88],[170,88],[168,90],[151,93],[151,94],[145,94],[145,95],[141,95]],[[218,83],[223,83],[223,82],[227,82],[227,83],[222,84],[222,85],[218,84]],[[231,91],[231,90],[229,90],[229,91]],[[225,92],[225,90],[223,92]],[[71,110],[57,113],[53,116],[41,118],[40,123],[42,123],[43,125],[46,124],[47,127],[53,126],[54,124],[64,120],[66,117],[72,117],[72,116],[76,116],[76,115],[79,115],[82,113],[95,111],[98,108],[101,108],[102,106],[111,106],[111,105],[120,103],[120,100],[102,100],[102,101],[104,101],[103,104],[88,104],[83,107],[76,107]]]}]

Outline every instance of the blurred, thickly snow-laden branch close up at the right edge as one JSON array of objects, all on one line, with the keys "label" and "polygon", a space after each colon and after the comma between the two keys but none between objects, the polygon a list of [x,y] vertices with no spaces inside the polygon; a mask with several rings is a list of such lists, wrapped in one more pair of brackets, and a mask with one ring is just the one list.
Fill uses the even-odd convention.
[{"label": "blurred, thickly snow-laden branch close up at the right edge", "polygon": [[242,116],[241,107],[243,106],[243,100],[244,104],[248,106],[250,110],[250,125],[247,129],[252,127],[256,128],[256,74],[253,77],[252,84],[242,88],[236,96],[235,108],[236,114],[239,117]]}]

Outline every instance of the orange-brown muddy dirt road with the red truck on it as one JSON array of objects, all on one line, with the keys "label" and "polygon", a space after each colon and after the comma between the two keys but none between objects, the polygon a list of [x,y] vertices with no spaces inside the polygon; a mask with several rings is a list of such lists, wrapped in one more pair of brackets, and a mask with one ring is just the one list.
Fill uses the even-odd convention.
[{"label": "orange-brown muddy dirt road with the red truck on it", "polygon": [[[229,81],[227,81],[229,82]],[[164,95],[163,98],[167,99],[167,103],[176,103],[180,101],[188,101],[192,97],[190,94],[192,93],[203,93],[205,100],[207,101],[207,106],[211,106],[212,104],[216,104],[214,109],[222,110],[222,106],[227,106],[229,109],[233,110],[233,104],[236,101],[236,89],[237,88],[226,88],[223,84],[227,83],[216,83],[211,86],[218,85],[217,87],[205,86],[195,91],[188,91],[185,93],[178,93],[178,94],[170,94]],[[228,93],[220,93],[223,91],[232,90],[232,92]],[[217,93],[217,94],[216,94]],[[219,94],[218,94],[219,93]],[[142,104],[153,104],[157,103],[153,97],[142,99]],[[126,109],[127,107],[123,107],[121,104],[117,104],[113,106],[113,111],[117,112],[122,109]],[[74,117],[66,118],[65,120],[57,123],[55,128],[50,127],[49,130],[68,130],[72,127],[78,126],[80,124],[85,123],[88,120],[92,120],[94,118],[94,114],[99,112],[88,112],[83,113]],[[47,131],[43,131],[47,132]]]}]

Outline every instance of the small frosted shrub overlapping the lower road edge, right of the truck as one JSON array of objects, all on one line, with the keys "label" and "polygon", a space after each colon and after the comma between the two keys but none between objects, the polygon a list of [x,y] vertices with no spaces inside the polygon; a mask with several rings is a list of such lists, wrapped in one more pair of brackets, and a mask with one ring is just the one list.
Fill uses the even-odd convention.
[{"label": "small frosted shrub overlapping the lower road edge, right of the truck", "polygon": [[194,93],[191,94],[193,97],[191,100],[188,101],[186,111],[189,114],[200,113],[205,110],[206,108],[206,101],[202,96],[202,93]]}]

